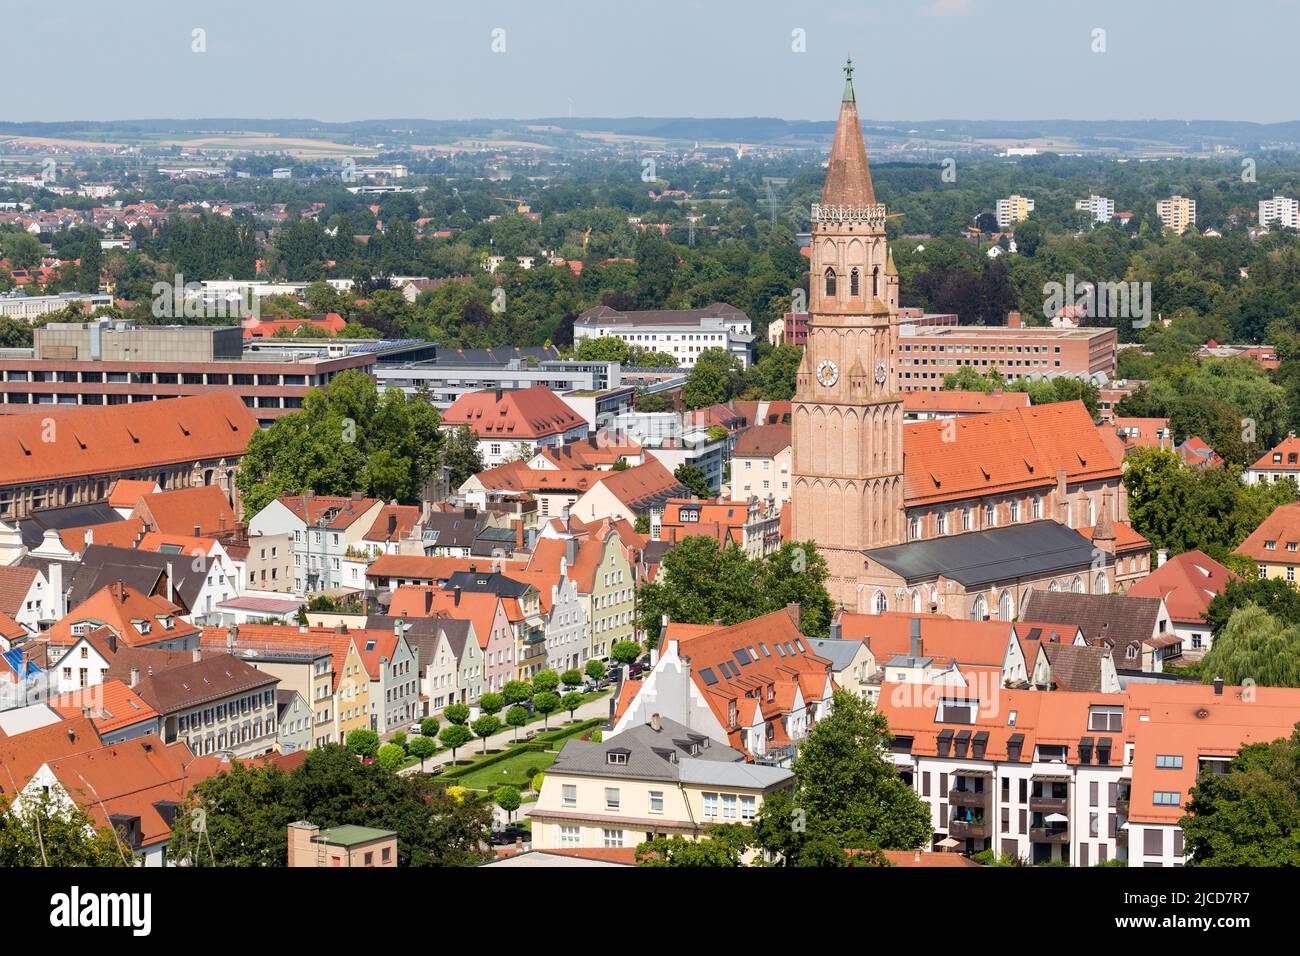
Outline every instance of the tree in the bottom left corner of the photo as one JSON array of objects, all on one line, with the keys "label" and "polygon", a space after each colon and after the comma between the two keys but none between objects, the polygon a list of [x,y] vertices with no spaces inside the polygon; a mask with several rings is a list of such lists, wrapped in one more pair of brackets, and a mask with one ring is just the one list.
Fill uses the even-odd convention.
[{"label": "tree in the bottom left corner of the photo", "polygon": [[133,866],[130,845],[96,826],[77,804],[25,796],[18,808],[0,800],[0,866]]}]

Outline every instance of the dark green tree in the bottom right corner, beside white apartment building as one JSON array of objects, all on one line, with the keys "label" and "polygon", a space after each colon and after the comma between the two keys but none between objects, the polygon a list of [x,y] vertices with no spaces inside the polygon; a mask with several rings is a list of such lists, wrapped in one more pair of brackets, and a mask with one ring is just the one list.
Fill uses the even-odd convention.
[{"label": "dark green tree in the bottom right corner, beside white apartment building", "polygon": [[1300,727],[1201,774],[1179,821],[1192,866],[1300,866]]}]

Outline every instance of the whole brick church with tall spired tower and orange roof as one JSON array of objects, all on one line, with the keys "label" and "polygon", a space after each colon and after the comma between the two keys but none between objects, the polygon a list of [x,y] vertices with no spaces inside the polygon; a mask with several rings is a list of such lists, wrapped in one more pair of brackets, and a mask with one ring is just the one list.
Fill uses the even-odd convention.
[{"label": "whole brick church with tall spired tower and orange roof", "polygon": [[793,403],[792,529],[844,610],[1011,620],[1035,589],[1114,593],[1149,571],[1121,463],[1082,402],[904,423],[898,269],[845,66],[812,206]]}]

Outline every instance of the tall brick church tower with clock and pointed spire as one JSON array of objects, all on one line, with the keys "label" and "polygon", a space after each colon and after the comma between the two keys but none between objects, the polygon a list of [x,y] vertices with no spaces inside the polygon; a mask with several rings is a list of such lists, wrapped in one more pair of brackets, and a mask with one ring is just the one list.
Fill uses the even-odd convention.
[{"label": "tall brick church tower with clock and pointed spire", "polygon": [[905,540],[898,272],[853,95],[853,61],[822,202],[812,206],[807,347],[794,393],[793,533],[816,541],[827,588],[864,610],[862,551]]}]

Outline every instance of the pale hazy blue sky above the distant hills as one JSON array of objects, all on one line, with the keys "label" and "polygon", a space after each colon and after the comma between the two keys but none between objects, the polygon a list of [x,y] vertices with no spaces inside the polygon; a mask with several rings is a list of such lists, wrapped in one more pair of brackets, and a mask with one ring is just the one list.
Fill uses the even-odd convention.
[{"label": "pale hazy blue sky above the distant hills", "polygon": [[1297,27],[1300,0],[9,0],[0,120],[827,120],[852,49],[871,118],[1273,122]]}]

